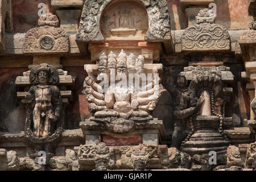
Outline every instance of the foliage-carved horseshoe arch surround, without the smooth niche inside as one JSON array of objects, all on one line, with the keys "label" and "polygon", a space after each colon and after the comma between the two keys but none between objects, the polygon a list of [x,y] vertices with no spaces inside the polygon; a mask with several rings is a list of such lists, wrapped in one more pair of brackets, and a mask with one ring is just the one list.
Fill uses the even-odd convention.
[{"label": "foliage-carved horseshoe arch surround, without the smooth niche inside", "polygon": [[[105,40],[100,30],[100,20],[106,6],[113,1],[85,1],[76,41],[90,42]],[[141,0],[141,3],[146,7],[148,14],[149,27],[145,40],[170,40],[171,24],[166,0]]]}]

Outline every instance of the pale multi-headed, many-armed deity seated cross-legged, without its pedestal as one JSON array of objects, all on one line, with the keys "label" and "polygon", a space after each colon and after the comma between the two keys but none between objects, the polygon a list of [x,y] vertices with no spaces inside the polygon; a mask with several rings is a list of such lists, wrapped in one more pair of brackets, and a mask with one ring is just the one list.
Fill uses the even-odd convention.
[{"label": "pale multi-headed, many-armed deity seated cross-legged, without its pedestal", "polygon": [[[162,86],[158,84],[156,68],[153,68],[154,76],[150,77],[151,82],[147,85],[147,80],[139,77],[143,71],[144,57],[139,55],[135,59],[133,53],[127,56],[123,50],[118,57],[113,52],[108,57],[102,53],[97,78],[88,65],[84,93],[91,102],[89,110],[94,113],[90,120],[104,123],[106,129],[115,133],[126,133],[133,129],[135,122],[151,120],[149,113],[158,103]],[[101,81],[100,84],[97,81]]]}]

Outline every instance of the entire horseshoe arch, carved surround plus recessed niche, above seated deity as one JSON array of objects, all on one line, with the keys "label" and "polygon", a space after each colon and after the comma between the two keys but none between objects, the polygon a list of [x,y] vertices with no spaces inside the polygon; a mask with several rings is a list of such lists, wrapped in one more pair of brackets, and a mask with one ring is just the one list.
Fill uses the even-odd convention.
[{"label": "entire horseshoe arch, carved surround plus recessed niche, above seated deity", "polygon": [[87,0],[76,35],[78,44],[106,42],[111,46],[111,41],[126,40],[122,44],[129,47],[133,42],[163,42],[168,50],[171,39],[166,0]]}]

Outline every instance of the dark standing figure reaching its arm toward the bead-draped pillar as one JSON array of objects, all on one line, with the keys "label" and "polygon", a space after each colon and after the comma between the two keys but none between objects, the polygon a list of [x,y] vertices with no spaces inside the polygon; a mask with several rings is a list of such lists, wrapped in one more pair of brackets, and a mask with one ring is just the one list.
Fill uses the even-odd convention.
[{"label": "dark standing figure reaching its arm toward the bead-draped pillar", "polygon": [[174,107],[174,133],[172,134],[172,147],[180,148],[180,144],[187,137],[184,130],[187,126],[189,117],[200,111],[204,102],[204,97],[192,98],[189,96],[187,88],[187,79],[183,75],[177,76],[177,87],[172,85],[168,86],[173,98],[175,98]]}]

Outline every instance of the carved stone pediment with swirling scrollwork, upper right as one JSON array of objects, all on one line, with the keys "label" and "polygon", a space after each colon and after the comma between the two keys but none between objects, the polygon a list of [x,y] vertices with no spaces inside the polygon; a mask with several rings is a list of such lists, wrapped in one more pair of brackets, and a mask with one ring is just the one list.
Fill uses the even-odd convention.
[{"label": "carved stone pediment with swirling scrollwork, upper right", "polygon": [[199,11],[197,24],[185,29],[182,37],[183,51],[229,50],[230,37],[225,27],[214,24],[214,16],[209,10]]}]

